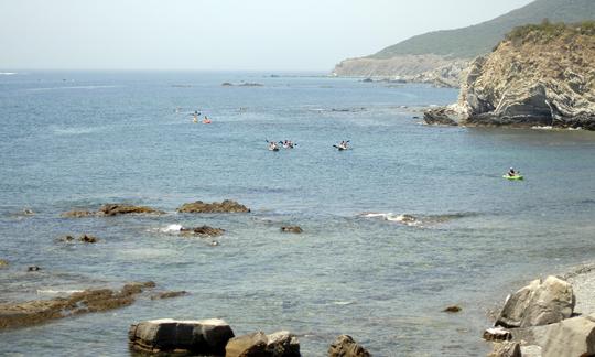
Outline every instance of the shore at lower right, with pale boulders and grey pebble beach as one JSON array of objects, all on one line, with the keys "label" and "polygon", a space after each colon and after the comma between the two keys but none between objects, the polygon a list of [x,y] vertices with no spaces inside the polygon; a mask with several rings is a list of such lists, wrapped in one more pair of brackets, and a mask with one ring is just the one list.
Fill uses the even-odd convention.
[{"label": "shore at lower right, with pale boulders and grey pebble beach", "polygon": [[494,327],[490,357],[593,356],[595,264],[538,279],[508,295]]}]

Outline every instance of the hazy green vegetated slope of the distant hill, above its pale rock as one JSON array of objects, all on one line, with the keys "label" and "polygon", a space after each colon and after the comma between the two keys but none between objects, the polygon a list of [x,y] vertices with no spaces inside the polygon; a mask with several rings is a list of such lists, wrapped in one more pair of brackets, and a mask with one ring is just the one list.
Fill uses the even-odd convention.
[{"label": "hazy green vegetated slope of the distant hill, above its pale rock", "polygon": [[536,0],[494,20],[457,30],[430,32],[387,47],[369,57],[390,58],[405,54],[439,54],[472,58],[488,53],[517,26],[552,22],[577,23],[595,20],[595,0]]}]

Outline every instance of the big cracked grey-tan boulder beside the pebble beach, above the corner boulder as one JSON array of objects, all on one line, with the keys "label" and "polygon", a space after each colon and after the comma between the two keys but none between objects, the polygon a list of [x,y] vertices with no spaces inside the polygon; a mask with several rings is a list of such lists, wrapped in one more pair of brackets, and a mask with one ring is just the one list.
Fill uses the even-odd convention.
[{"label": "big cracked grey-tan boulder beside the pebble beach, above the corner boulder", "polygon": [[569,318],[574,304],[572,285],[550,275],[508,296],[496,325],[511,328],[553,324]]}]

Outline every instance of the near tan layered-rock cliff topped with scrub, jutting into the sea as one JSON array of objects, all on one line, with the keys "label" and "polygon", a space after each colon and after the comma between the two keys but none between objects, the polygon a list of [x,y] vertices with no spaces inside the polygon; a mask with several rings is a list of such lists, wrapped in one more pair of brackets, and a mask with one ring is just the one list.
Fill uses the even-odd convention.
[{"label": "near tan layered-rock cliff topped with scrub, jutting into the sea", "polygon": [[515,29],[465,69],[458,102],[428,123],[595,130],[595,22]]}]

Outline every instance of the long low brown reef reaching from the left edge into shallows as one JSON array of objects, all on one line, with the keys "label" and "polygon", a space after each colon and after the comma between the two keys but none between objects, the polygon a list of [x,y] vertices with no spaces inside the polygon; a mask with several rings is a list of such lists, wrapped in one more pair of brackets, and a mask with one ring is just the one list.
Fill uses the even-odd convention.
[{"label": "long low brown reef reaching from the left edge into shallows", "polygon": [[0,304],[0,329],[127,306],[134,302],[134,295],[140,292],[142,289],[133,291],[122,289],[120,292],[109,289],[85,290],[68,298]]}]

